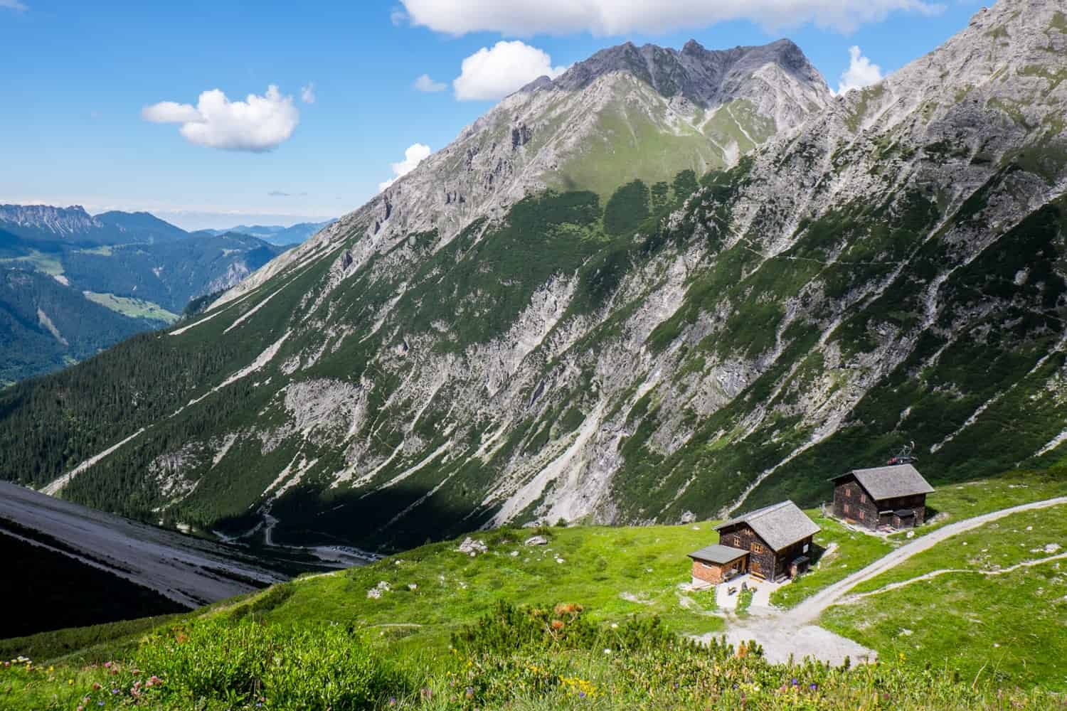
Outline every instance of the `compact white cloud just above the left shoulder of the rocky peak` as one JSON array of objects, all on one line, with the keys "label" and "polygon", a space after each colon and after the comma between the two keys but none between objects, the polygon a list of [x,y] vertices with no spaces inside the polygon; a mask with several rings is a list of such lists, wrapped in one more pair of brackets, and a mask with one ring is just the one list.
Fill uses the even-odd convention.
[{"label": "compact white cloud just above the left shoulder of the rocky peak", "polygon": [[463,60],[452,90],[460,101],[499,99],[547,75],[555,79],[567,67],[553,67],[546,52],[519,42],[498,42],[492,49],[482,47]]}]

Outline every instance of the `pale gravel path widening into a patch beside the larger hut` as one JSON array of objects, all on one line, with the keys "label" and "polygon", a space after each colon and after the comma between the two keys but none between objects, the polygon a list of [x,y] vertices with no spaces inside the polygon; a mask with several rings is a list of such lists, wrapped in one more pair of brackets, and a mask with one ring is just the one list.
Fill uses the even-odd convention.
[{"label": "pale gravel path widening into a patch beside the larger hut", "polygon": [[[731,621],[726,632],[727,641],[736,646],[740,642],[755,640],[763,646],[767,660],[774,663],[789,661],[790,657],[796,660],[812,657],[831,664],[841,664],[845,657],[854,661],[873,661],[877,657],[877,652],[873,649],[867,649],[814,624],[824,610],[842,602],[848,591],[856,585],[896,567],[924,550],[929,550],[946,538],[1012,514],[1061,504],[1067,504],[1067,497],[1024,503],[950,523],[901,546],[865,568],[816,593],[792,610],[773,610]],[[712,633],[700,639],[706,642],[713,636],[721,635]]]}]

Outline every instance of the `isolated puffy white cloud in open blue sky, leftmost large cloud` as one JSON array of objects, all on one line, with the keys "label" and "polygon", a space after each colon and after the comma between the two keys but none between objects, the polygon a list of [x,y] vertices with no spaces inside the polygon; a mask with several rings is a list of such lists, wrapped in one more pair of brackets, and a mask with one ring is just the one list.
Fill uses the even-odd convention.
[{"label": "isolated puffy white cloud in open blue sky, leftmost large cloud", "polygon": [[178,131],[190,143],[224,150],[262,152],[292,135],[300,112],[291,96],[282,96],[271,84],[262,96],[249,94],[230,101],[218,88],[200,95],[196,106],[160,101],[141,110],[145,120],[180,124]]}]

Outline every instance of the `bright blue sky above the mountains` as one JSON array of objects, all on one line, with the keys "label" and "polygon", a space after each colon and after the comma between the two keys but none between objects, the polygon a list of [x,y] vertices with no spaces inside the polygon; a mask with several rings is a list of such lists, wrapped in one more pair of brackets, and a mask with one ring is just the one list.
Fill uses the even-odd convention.
[{"label": "bright blue sky above the mountains", "polygon": [[[787,36],[837,88],[849,47],[889,74],[966,27],[980,6],[658,0],[666,10],[647,15],[644,4],[0,0],[0,203],[149,210],[189,228],[336,216],[395,177],[392,165],[410,146],[445,146],[494,103],[458,100],[452,80],[464,59],[501,39],[527,46],[508,46],[521,61],[540,56],[536,48],[551,56],[546,66],[562,67],[626,39],[681,47],[692,37],[723,48]],[[845,10],[830,16],[827,7]],[[731,19],[738,15],[747,18]],[[479,70],[492,75],[503,52],[481,56]],[[421,75],[440,91],[415,88]],[[491,95],[508,79],[476,85],[488,81],[479,77],[463,92]],[[244,101],[270,85],[276,94],[262,99],[259,118],[218,95],[229,123],[197,118],[210,112],[203,92]],[[314,102],[302,99],[304,87]],[[184,106],[157,107],[146,119],[145,108],[162,101]],[[190,116],[189,135],[181,124],[158,123]]]}]

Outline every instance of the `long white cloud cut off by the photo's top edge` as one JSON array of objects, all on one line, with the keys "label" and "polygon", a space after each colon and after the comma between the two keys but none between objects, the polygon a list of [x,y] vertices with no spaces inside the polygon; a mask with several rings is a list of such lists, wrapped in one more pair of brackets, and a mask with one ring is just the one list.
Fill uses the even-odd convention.
[{"label": "long white cloud cut off by the photo's top edge", "polygon": [[842,32],[893,11],[936,13],[934,0],[402,0],[412,25],[461,35],[592,32],[619,35],[749,19],[771,30],[814,22]]}]

